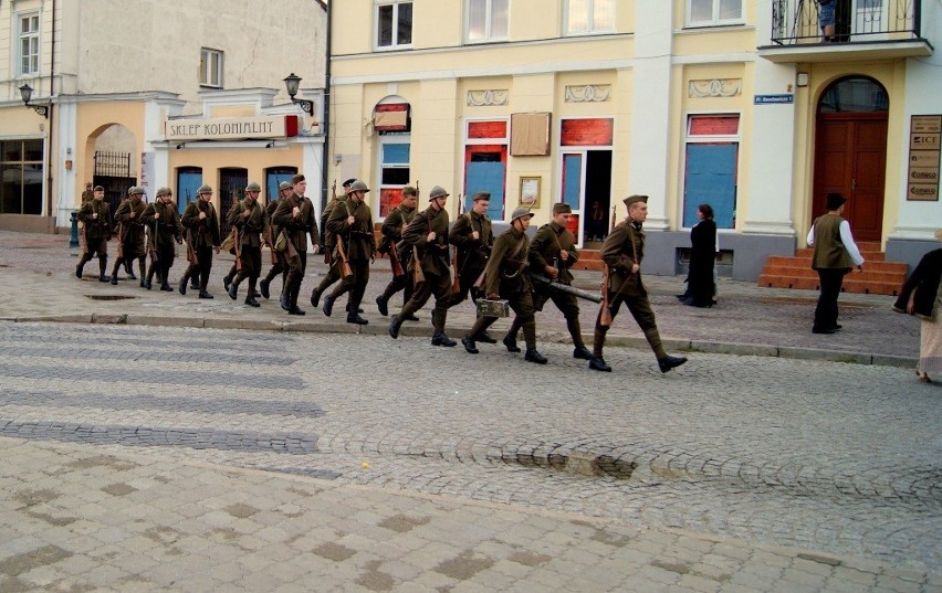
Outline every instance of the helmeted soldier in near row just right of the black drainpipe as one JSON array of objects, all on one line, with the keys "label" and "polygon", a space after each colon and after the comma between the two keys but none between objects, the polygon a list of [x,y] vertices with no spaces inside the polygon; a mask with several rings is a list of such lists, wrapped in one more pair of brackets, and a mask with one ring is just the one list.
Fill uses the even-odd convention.
[{"label": "helmeted soldier in near row just right of the black drainpipe", "polygon": [[[373,213],[364,202],[369,188],[360,180],[354,181],[347,194],[347,201],[337,204],[327,221],[327,234],[334,237],[334,267],[343,267],[344,260],[349,265],[352,275],[343,278],[334,292],[324,297],[324,315],[331,317],[334,301],[344,293],[349,293],[347,301],[347,322],[365,326],[366,319],[360,317],[359,303],[369,282],[369,264],[376,258],[376,237],[373,234]],[[341,253],[341,242],[346,257]],[[343,276],[343,273],[341,274]]]}]

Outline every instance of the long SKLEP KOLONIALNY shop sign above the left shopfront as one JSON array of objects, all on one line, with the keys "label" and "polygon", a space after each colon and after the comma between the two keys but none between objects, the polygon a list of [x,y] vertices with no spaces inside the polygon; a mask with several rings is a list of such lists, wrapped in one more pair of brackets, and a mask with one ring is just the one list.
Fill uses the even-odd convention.
[{"label": "long SKLEP KOLONIALNY shop sign above the left shopfront", "polygon": [[168,119],[164,123],[164,136],[170,142],[286,138],[297,136],[297,116]]}]

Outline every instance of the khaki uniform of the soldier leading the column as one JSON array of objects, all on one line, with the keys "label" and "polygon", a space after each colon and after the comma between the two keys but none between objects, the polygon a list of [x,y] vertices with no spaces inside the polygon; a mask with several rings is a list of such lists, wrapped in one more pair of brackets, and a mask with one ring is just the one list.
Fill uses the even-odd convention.
[{"label": "khaki uniform of the soldier leading the column", "polygon": [[[641,282],[641,272],[631,273],[634,264],[641,265],[645,257],[645,232],[640,224],[621,222],[605,240],[601,246],[601,260],[608,265],[608,306],[611,309],[613,321],[624,303],[641,331],[645,332],[648,343],[658,360],[667,358],[668,353],[661,345],[655,311],[648,300],[648,290]],[[601,351],[605,347],[605,335],[608,328],[601,327],[599,319],[601,313],[596,317],[595,337],[593,340],[593,356],[603,358]]]}]

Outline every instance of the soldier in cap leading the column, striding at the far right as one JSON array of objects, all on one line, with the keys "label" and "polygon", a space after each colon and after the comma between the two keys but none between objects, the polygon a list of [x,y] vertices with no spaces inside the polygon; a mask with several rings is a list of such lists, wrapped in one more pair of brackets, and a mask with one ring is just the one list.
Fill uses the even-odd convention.
[{"label": "soldier in cap leading the column, striding at the far right", "polygon": [[[668,354],[661,345],[655,311],[651,310],[648,290],[641,282],[641,261],[645,258],[645,232],[641,225],[648,219],[648,197],[629,195],[624,202],[628,208],[628,218],[615,226],[601,246],[601,261],[608,266],[608,286],[604,287],[608,290],[608,308],[614,321],[621,304],[628,307],[655,351],[661,372],[668,372],[687,362],[687,358]],[[611,372],[611,367],[601,356],[607,331],[608,326],[601,324],[599,309],[589,369]]]}]

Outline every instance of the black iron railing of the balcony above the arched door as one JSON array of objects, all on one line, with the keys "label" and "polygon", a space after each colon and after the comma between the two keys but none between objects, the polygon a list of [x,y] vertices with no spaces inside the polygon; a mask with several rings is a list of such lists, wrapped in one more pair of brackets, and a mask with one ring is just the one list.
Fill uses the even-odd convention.
[{"label": "black iron railing of the balcony above the arched door", "polygon": [[[834,0],[829,42],[912,41],[920,36],[921,0]],[[824,43],[817,0],[773,0],[772,43]]]}]

